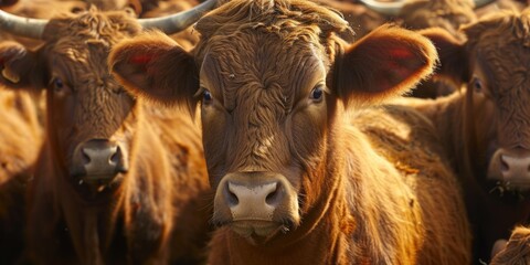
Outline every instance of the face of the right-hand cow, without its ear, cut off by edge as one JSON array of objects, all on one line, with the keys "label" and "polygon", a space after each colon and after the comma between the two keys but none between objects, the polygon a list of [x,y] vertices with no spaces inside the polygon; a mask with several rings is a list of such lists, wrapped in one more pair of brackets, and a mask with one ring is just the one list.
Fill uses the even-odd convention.
[{"label": "face of the right-hand cow, without its ear, cut off by edge", "polygon": [[489,161],[488,179],[500,181],[508,190],[528,190],[530,13],[507,18],[510,25],[494,19],[466,29],[470,50],[467,93],[478,117],[479,151]]}]

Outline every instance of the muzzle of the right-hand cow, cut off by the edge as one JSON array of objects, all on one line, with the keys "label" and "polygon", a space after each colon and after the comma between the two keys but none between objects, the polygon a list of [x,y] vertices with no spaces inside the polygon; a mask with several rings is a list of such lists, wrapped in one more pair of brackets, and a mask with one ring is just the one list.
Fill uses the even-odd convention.
[{"label": "muzzle of the right-hand cow, cut off by the edge", "polygon": [[530,150],[497,150],[489,162],[488,179],[500,181],[507,190],[529,190]]}]

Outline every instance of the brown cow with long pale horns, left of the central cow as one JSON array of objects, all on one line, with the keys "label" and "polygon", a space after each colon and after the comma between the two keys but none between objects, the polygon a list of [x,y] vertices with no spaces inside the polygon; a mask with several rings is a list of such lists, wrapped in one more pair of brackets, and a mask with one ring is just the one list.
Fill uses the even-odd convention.
[{"label": "brown cow with long pale horns, left of the central cow", "polygon": [[28,195],[30,261],[203,258],[210,226],[203,198],[210,189],[200,131],[189,116],[155,109],[126,93],[106,60],[120,39],[142,28],[184,29],[213,4],[147,21],[96,8],[49,21],[0,13],[4,30],[44,40],[35,51],[0,44],[1,86],[46,91],[45,144]]}]

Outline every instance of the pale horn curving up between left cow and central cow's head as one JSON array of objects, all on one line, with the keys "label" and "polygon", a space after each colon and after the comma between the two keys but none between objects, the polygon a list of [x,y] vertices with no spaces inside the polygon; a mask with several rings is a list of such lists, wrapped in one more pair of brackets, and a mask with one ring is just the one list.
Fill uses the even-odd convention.
[{"label": "pale horn curving up between left cow and central cow's head", "polygon": [[216,0],[208,0],[190,10],[162,18],[138,19],[138,22],[144,29],[159,29],[166,34],[173,34],[197,22],[204,12],[213,9]]}]

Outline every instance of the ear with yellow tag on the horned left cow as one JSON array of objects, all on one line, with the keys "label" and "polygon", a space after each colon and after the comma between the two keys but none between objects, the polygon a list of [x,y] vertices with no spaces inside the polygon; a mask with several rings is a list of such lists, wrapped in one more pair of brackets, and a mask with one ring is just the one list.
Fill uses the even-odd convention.
[{"label": "ear with yellow tag on the horned left cow", "polygon": [[0,85],[9,89],[42,89],[44,73],[35,52],[17,42],[0,44]]}]

